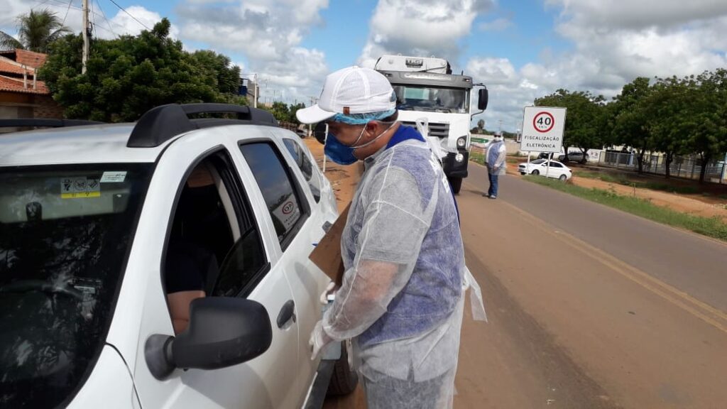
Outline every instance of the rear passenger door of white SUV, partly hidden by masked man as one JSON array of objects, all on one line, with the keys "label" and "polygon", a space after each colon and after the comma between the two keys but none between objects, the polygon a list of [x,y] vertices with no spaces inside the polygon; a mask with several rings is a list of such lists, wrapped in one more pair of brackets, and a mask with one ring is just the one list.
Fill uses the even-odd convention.
[{"label": "rear passenger door of white SUV, partly hidden by masked man", "polygon": [[[316,195],[316,202],[316,196],[300,170],[300,156],[293,158],[279,141],[276,138],[275,141],[243,142],[240,151],[265,197],[270,220],[278,235],[280,258],[273,268],[284,271],[292,288],[300,339],[296,383],[291,384],[291,389],[297,391],[300,396],[297,403],[302,405],[317,367],[317,362],[309,359],[308,335],[320,319],[318,295],[327,284],[325,274],[308,256],[313,244],[324,234],[324,219],[318,207],[321,196]],[[303,168],[310,172],[308,165]]]}]

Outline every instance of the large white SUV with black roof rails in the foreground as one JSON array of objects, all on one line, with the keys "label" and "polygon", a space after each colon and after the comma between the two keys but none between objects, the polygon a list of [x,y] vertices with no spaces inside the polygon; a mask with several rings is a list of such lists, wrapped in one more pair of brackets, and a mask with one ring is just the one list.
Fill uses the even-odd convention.
[{"label": "large white SUV with black roof rails in the foreground", "polygon": [[[188,117],[212,112],[239,119]],[[308,346],[329,283],[308,255],[337,215],[308,148],[254,108],[0,134],[0,406],[303,408],[329,379],[350,392],[345,353],[313,362]]]}]

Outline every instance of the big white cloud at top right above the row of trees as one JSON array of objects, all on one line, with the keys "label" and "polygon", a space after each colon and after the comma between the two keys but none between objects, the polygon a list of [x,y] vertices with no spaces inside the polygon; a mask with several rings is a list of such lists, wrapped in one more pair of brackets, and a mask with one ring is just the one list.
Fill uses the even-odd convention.
[{"label": "big white cloud at top right above the row of trees", "polygon": [[[539,60],[514,68],[502,58],[467,63],[475,80],[490,88],[484,114],[490,129],[502,119],[515,130],[523,106],[558,88],[610,98],[636,76],[686,76],[727,66],[727,1],[547,0],[561,12],[556,33],[568,52],[543,49]],[[512,68],[512,69],[510,69]],[[476,119],[475,119],[476,121]]]}]

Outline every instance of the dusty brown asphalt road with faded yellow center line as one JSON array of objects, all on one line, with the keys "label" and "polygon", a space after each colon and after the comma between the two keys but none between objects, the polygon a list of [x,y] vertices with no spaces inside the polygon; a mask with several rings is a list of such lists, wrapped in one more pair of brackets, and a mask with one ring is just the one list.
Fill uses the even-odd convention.
[{"label": "dusty brown asphalt road with faded yellow center line", "polygon": [[727,245],[486,180],[471,164],[458,196],[489,322],[465,311],[454,408],[727,408]]}]

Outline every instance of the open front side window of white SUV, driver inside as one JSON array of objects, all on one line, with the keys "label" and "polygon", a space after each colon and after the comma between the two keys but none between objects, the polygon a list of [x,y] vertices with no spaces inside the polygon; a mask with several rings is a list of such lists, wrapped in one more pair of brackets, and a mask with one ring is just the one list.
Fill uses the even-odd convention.
[{"label": "open front side window of white SUV, driver inside", "polygon": [[236,297],[267,271],[260,231],[230,163],[227,154],[212,154],[182,183],[166,251],[167,293]]}]

